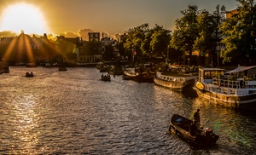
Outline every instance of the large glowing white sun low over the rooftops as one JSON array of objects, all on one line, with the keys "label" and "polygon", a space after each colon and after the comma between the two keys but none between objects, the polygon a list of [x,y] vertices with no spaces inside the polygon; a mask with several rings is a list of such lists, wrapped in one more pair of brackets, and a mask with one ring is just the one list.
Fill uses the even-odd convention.
[{"label": "large glowing white sun low over the rooftops", "polygon": [[41,11],[27,3],[16,3],[6,8],[3,11],[0,30],[39,35],[48,32]]}]

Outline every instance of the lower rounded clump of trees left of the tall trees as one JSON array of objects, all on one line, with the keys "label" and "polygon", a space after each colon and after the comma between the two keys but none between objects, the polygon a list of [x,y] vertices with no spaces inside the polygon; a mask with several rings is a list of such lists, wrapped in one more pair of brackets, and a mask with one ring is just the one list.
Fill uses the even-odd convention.
[{"label": "lower rounded clump of trees left of the tall trees", "polygon": [[163,26],[155,25],[149,28],[148,24],[129,29],[120,37],[119,50],[122,49],[126,56],[131,57],[136,51],[137,57],[157,57],[167,55],[168,43],[171,40],[171,31]]}]

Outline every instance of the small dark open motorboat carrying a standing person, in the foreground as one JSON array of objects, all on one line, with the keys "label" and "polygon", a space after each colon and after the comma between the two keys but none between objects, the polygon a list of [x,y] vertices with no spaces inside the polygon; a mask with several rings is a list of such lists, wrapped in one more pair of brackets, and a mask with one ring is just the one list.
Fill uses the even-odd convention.
[{"label": "small dark open motorboat carrying a standing person, in the foreground", "polygon": [[218,135],[213,133],[212,129],[208,128],[201,127],[200,132],[195,136],[190,135],[189,129],[192,123],[193,121],[189,118],[184,118],[183,116],[174,114],[171,119],[169,131],[173,129],[176,135],[179,135],[185,140],[197,145],[210,146],[218,141]]}]

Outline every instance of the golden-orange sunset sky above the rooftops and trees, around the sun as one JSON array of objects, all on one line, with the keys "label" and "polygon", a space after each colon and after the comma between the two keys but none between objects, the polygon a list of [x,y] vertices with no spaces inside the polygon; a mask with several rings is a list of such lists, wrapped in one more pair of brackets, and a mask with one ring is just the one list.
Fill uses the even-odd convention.
[{"label": "golden-orange sunset sky above the rooftops and trees, around the sun", "polygon": [[[29,4],[39,13],[24,14],[26,11],[23,10],[17,13],[18,9],[12,8],[14,13],[8,14],[15,14],[16,11],[20,16],[7,15],[7,10],[17,3]],[[113,35],[124,33],[129,28],[144,23],[151,27],[157,24],[172,30],[174,21],[182,16],[180,11],[188,9],[189,4],[212,13],[218,4],[224,5],[226,10],[231,10],[236,9],[239,3],[236,0],[0,0],[0,32],[14,31],[6,29],[18,20],[29,23],[23,28],[19,27],[23,25],[17,25],[15,28],[20,29],[19,32],[21,29],[29,32],[26,26],[41,26],[45,33],[77,33],[79,30],[91,29],[93,32],[107,32]],[[37,16],[31,17],[31,14]],[[36,28],[31,33],[40,33]]]}]

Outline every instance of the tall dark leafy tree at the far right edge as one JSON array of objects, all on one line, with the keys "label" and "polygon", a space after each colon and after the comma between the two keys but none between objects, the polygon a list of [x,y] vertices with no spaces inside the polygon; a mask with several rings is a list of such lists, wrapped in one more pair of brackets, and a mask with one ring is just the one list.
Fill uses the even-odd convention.
[{"label": "tall dark leafy tree at the far right edge", "polygon": [[[220,26],[225,49],[221,50],[224,62],[238,62],[247,65],[247,60],[255,53],[256,8],[253,0],[238,0],[241,6],[237,14],[224,21]],[[242,61],[241,61],[242,60]]]}]

